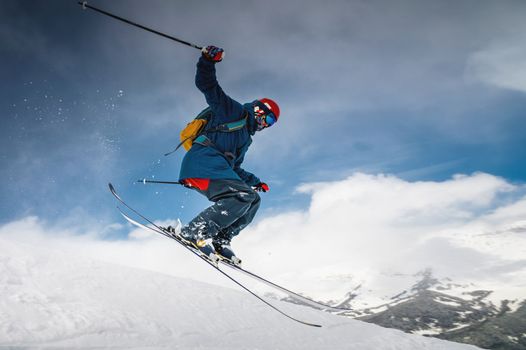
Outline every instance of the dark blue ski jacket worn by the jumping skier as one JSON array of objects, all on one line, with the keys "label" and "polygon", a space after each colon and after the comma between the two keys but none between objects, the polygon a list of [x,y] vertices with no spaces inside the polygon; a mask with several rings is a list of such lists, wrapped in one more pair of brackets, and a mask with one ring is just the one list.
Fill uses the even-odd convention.
[{"label": "dark blue ski jacket worn by the jumping skier", "polygon": [[[195,85],[205,95],[212,110],[212,118],[205,127],[205,135],[214,145],[206,147],[194,143],[183,158],[179,180],[236,179],[249,186],[257,185],[261,180],[241,168],[245,153],[252,143],[252,135],[256,132],[253,104],[242,105],[227,96],[217,82],[215,63],[202,56],[197,62]],[[210,128],[242,119],[245,113],[248,113],[245,128],[233,132],[206,133]],[[232,153],[234,159],[227,158],[225,152]]]}]

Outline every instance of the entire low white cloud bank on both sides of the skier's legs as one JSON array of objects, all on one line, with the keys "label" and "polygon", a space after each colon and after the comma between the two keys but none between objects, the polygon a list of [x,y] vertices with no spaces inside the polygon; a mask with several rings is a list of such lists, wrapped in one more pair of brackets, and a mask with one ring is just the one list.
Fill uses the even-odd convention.
[{"label": "entire low white cloud bank on both sides of the skier's legs", "polygon": [[[393,274],[425,268],[438,277],[500,288],[507,297],[526,281],[524,187],[505,179],[475,173],[409,182],[357,173],[303,184],[298,192],[311,196],[306,210],[269,217],[262,212],[233,242],[247,269],[288,288],[325,300],[341,299],[359,284],[387,295],[410,287],[400,286]],[[79,234],[28,217],[0,227],[0,235],[232,287],[164,237],[130,226],[128,240],[108,241],[112,228]]]}]

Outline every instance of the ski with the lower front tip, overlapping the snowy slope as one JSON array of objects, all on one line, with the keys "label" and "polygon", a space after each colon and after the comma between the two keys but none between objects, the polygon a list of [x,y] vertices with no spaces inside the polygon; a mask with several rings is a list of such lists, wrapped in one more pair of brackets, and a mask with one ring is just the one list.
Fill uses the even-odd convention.
[{"label": "ski with the lower front tip, overlapping the snowy slope", "polygon": [[171,238],[173,239],[174,241],[176,241],[177,243],[179,243],[180,245],[182,245],[184,248],[186,248],[188,251],[190,251],[191,253],[193,253],[194,255],[198,256],[199,258],[201,258],[204,262],[206,262],[208,265],[210,265],[213,269],[215,269],[216,271],[218,271],[219,273],[221,273],[223,276],[225,276],[227,279],[231,280],[233,283],[235,283],[237,286],[241,287],[243,290],[245,290],[246,292],[248,292],[250,295],[254,296],[255,298],[257,298],[259,301],[261,301],[262,303],[264,303],[265,305],[267,305],[268,307],[270,307],[271,309],[273,309],[274,311],[280,313],[281,315],[287,317],[288,319],[292,320],[292,321],[295,321],[295,322],[298,322],[298,323],[301,323],[303,325],[306,325],[306,326],[311,326],[311,327],[321,327],[321,325],[319,324],[315,324],[315,323],[310,323],[310,322],[305,322],[305,321],[302,321],[302,320],[299,320],[297,318],[294,318],[293,316],[290,316],[289,314],[285,313],[284,311],[280,310],[279,308],[277,308],[276,306],[272,305],[271,303],[269,303],[268,301],[266,301],[265,299],[263,299],[262,297],[260,297],[259,295],[257,295],[255,292],[253,292],[252,290],[250,290],[248,287],[246,287],[244,284],[242,284],[241,282],[239,282],[237,279],[235,279],[234,277],[230,276],[228,273],[226,273],[225,271],[221,270],[213,261],[211,261],[210,259],[208,259],[206,256],[200,254],[200,252],[196,249],[193,249],[191,248],[190,246],[184,244],[182,241],[178,240],[176,237],[174,237],[173,235],[171,235],[168,231],[166,231],[163,227],[155,224],[152,220],[148,219],[147,217],[145,217],[144,215],[142,215],[140,212],[138,212],[137,210],[135,210],[134,208],[132,208],[129,204],[127,204],[118,194],[117,194],[117,191],[115,190],[115,187],[109,183],[108,184],[109,186],[109,189],[110,189],[110,192],[111,194],[120,202],[122,203],[126,208],[128,208],[129,210],[131,210],[133,213],[135,213],[135,215],[139,216],[141,219],[143,219],[144,221],[148,222],[150,225],[152,225],[153,227],[150,227],[148,225],[143,225],[133,219],[131,219],[128,215],[126,215],[120,208],[119,211],[121,212],[121,214],[128,220],[130,221],[130,223],[133,223],[134,225],[137,225],[139,227],[142,227],[142,228],[145,228],[145,229],[149,229],[153,232],[156,232],[158,234],[161,234],[165,237],[168,237],[168,238]]}]

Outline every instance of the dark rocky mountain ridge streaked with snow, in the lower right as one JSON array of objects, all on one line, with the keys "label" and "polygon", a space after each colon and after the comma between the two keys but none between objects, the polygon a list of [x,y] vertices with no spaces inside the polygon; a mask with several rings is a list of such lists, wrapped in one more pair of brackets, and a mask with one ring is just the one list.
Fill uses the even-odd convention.
[{"label": "dark rocky mountain ridge streaked with snow, in the lower right", "polygon": [[[380,308],[359,310],[355,318],[404,332],[477,345],[486,349],[526,350],[526,299],[489,300],[490,290],[436,279],[431,270]],[[448,294],[464,288],[460,296]],[[526,295],[525,295],[526,297]]]}]

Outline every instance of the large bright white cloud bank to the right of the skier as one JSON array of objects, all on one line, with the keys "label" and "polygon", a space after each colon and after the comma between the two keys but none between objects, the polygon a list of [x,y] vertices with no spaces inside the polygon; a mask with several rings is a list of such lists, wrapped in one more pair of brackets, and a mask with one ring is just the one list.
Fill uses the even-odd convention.
[{"label": "large bright white cloud bank to the right of the skier", "polygon": [[526,280],[524,189],[484,173],[442,182],[358,173],[300,186],[307,210],[260,221],[234,248],[247,268],[326,299],[424,268],[502,289],[512,275]]}]

